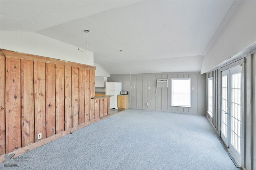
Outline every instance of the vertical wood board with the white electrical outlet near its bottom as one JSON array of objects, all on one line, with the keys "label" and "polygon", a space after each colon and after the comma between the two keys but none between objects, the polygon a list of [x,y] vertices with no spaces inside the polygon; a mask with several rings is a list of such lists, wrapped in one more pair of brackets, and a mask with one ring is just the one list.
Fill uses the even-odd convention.
[{"label": "vertical wood board with the white electrical outlet near its bottom", "polygon": [[34,62],[35,136],[46,138],[46,63]]}]

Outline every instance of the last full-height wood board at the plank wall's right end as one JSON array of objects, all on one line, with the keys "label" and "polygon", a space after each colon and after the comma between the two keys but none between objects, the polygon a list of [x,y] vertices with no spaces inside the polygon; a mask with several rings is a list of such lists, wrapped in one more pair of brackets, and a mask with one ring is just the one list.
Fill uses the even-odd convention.
[{"label": "last full-height wood board at the plank wall's right end", "polygon": [[[95,70],[90,70],[90,98],[95,97]],[[95,100],[90,100],[90,121],[95,119]]]}]

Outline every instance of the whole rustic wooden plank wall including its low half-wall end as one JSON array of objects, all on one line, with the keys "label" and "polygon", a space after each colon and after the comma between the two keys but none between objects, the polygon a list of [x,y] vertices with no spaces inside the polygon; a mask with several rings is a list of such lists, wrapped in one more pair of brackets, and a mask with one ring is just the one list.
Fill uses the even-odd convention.
[{"label": "whole rustic wooden plank wall including its low half-wall end", "polygon": [[0,49],[0,163],[108,117],[94,86],[94,66]]}]

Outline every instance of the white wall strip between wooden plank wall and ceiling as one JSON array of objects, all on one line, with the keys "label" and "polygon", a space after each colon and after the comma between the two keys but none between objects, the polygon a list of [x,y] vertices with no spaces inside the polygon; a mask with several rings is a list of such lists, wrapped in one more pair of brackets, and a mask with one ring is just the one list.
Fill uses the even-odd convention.
[{"label": "white wall strip between wooden plank wall and ceiling", "polygon": [[93,52],[34,32],[1,31],[0,48],[74,63],[93,64]]}]

